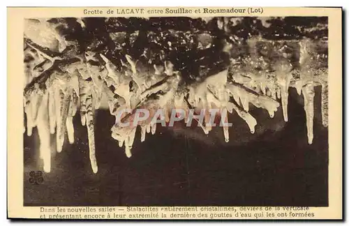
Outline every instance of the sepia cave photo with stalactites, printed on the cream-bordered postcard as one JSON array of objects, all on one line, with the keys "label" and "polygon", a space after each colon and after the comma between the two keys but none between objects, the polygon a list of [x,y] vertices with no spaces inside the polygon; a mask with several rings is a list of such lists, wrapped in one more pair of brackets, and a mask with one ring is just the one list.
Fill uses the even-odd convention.
[{"label": "sepia cave photo with stalactites, printed on the cream-bordered postcard", "polygon": [[23,18],[20,205],[73,219],[331,206],[328,15],[81,10]]}]

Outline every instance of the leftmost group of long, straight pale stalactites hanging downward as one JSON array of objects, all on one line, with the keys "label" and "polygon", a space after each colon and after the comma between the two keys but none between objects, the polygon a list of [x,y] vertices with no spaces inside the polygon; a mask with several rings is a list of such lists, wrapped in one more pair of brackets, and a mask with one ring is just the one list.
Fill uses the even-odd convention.
[{"label": "leftmost group of long, straight pale stalactites hanging downward", "polygon": [[[89,82],[82,80],[79,75],[78,72],[64,76],[54,74],[50,77],[50,81],[47,81],[50,83],[47,89],[36,89],[30,93],[30,96],[24,98],[27,135],[31,136],[32,129],[37,127],[40,139],[40,158],[43,159],[45,172],[50,172],[51,165],[50,134],[56,133],[57,152],[63,149],[66,133],[68,142],[70,144],[74,142],[73,116],[77,112],[78,105],[80,105],[82,124],[87,126],[91,167],[95,173],[98,171],[94,144],[94,109],[92,107],[92,98],[98,96],[98,93]],[[62,78],[66,81],[61,80]]]}]

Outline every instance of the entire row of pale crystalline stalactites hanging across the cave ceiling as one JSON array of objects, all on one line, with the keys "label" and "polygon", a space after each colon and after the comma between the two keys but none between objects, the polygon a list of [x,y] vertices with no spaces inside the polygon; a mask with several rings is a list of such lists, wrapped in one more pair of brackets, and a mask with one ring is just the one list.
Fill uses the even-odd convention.
[{"label": "entire row of pale crystalline stalactites hanging across the cave ceiling", "polygon": [[[309,43],[300,43],[300,65],[307,67],[309,63]],[[27,47],[30,54],[34,47]],[[33,54],[32,54],[33,55]],[[89,140],[89,158],[94,173],[98,172],[96,161],[96,145],[94,141],[94,110],[98,109],[101,99],[105,95],[110,107],[110,114],[117,116],[118,112],[131,108],[148,107],[153,110],[163,109],[165,120],[168,121],[168,112],[173,108],[181,108],[186,111],[191,107],[210,110],[219,108],[225,123],[228,123],[228,112],[233,110],[246,121],[251,133],[254,133],[257,121],[248,112],[249,105],[261,107],[271,117],[279,107],[278,99],[281,99],[283,117],[288,121],[288,89],[294,86],[298,93],[303,93],[304,110],[306,112],[306,127],[308,130],[309,144],[313,140],[313,98],[314,86],[322,85],[322,122],[327,126],[327,75],[313,75],[311,70],[302,70],[299,80],[295,80],[290,73],[290,64],[287,61],[276,63],[276,79],[270,80],[267,73],[244,76],[235,75],[235,81],[228,81],[228,70],[207,77],[194,84],[187,85],[186,89],[179,89],[180,73],[174,71],[173,64],[165,61],[163,65],[154,65],[149,69],[130,56],[126,56],[127,62],[121,61],[124,70],[121,72],[103,54],[103,66],[93,66],[89,59],[94,59],[96,54],[87,52],[84,61],[77,61],[68,66],[61,66],[54,71],[45,81],[42,89],[34,84],[33,91],[24,94],[24,111],[27,114],[27,134],[31,135],[32,128],[37,126],[40,138],[40,158],[43,159],[45,172],[50,172],[51,165],[51,141],[50,134],[56,133],[57,151],[61,152],[64,145],[65,133],[68,134],[68,142],[74,142],[73,116],[80,108],[80,117],[83,126],[87,126]],[[35,58],[35,57],[34,57]],[[36,50],[38,61],[47,61],[50,68],[54,60],[46,54]],[[286,62],[286,63],[285,63]],[[34,68],[27,67],[27,83],[34,77],[40,76]],[[145,69],[144,69],[145,68]],[[135,87],[130,89],[130,83]],[[113,91],[112,91],[113,90]],[[183,90],[183,91],[180,91]],[[188,93],[186,91],[188,90]],[[157,98],[151,98],[154,94]],[[188,96],[188,98],[184,98]],[[80,106],[80,107],[79,107]],[[205,111],[205,121],[200,123],[204,133],[211,130],[209,125],[211,115]],[[132,117],[126,114],[124,120]],[[188,119],[184,119],[188,120]],[[140,123],[141,142],[144,142],[146,133],[156,133],[156,123],[147,121]],[[121,127],[118,122],[112,127],[112,137],[118,140],[119,146],[125,147],[126,156],[131,157],[131,149],[138,126]],[[228,142],[228,127],[223,127],[225,141]]]}]

